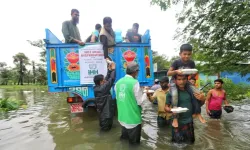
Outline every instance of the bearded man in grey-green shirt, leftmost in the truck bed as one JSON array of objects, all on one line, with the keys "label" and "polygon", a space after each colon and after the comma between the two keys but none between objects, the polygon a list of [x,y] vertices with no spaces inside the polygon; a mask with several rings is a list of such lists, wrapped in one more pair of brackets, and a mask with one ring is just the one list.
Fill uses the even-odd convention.
[{"label": "bearded man in grey-green shirt, leftmost in the truck bed", "polygon": [[62,24],[62,33],[65,38],[65,43],[77,43],[84,45],[82,42],[80,32],[76,26],[79,23],[79,11],[77,9],[71,10],[71,20],[64,21]]}]

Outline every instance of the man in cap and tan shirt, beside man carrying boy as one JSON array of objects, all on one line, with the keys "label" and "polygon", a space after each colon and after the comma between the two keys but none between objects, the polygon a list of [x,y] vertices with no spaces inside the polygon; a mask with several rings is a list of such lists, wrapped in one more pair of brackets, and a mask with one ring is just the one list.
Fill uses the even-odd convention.
[{"label": "man in cap and tan shirt, beside man carrying boy", "polygon": [[159,127],[165,127],[166,125],[170,124],[171,113],[167,113],[165,111],[165,104],[166,104],[166,94],[169,91],[169,78],[164,76],[160,80],[161,88],[157,89],[153,96],[150,93],[147,93],[150,102],[153,102],[157,99],[158,101],[158,117],[157,117],[157,124]]}]

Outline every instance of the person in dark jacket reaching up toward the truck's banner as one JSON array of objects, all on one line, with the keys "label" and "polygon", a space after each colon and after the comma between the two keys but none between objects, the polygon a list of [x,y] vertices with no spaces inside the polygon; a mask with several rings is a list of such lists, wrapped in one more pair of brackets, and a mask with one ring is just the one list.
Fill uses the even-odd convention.
[{"label": "person in dark jacket reaching up toward the truck's banner", "polygon": [[114,105],[110,90],[115,82],[115,63],[108,67],[107,75],[104,79],[102,74],[94,76],[94,99],[85,101],[83,107],[86,108],[90,102],[94,102],[99,115],[99,126],[102,131],[109,131],[113,125]]}]

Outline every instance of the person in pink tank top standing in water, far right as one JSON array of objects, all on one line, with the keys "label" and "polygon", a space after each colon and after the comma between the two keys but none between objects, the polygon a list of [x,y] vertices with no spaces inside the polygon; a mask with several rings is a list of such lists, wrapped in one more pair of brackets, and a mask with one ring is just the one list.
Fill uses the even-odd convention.
[{"label": "person in pink tank top standing in water, far right", "polygon": [[214,119],[220,119],[222,114],[222,103],[228,106],[226,92],[222,88],[223,80],[214,80],[214,89],[207,93],[206,111],[207,114]]}]

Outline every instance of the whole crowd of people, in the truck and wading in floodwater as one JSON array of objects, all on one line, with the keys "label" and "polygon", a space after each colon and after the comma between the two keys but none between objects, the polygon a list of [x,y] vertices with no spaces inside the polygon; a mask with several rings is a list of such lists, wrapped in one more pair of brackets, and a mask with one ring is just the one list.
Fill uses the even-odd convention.
[{"label": "whole crowd of people, in the truck and wading in floodwater", "polygon": [[[101,42],[103,44],[104,56],[107,59],[108,52],[114,47],[114,31],[112,29],[112,19],[105,17],[103,27],[100,24],[95,26],[95,31],[85,42],[81,40],[77,23],[79,11],[72,9],[72,20],[63,23],[62,32],[67,43],[77,43],[84,45],[85,42]],[[139,25],[135,23],[126,35],[126,42],[141,42],[141,35],[138,34]],[[155,80],[151,87],[154,93],[143,94],[139,81],[139,65],[135,62],[127,64],[126,75],[119,79],[115,86],[116,101],[112,100],[110,93],[115,82],[114,62],[108,64],[107,76],[96,75],[94,77],[95,104],[99,113],[99,125],[101,130],[112,129],[114,108],[117,106],[118,121],[121,125],[121,140],[128,140],[131,145],[140,144],[142,128],[142,107],[145,100],[158,103],[157,124],[159,127],[172,126],[172,141],[177,143],[193,143],[194,118],[206,123],[201,115],[201,106],[205,104],[207,114],[214,119],[219,119],[222,114],[222,104],[227,106],[227,112],[232,112],[223,90],[223,80],[214,80],[214,89],[205,94],[195,87],[195,74],[186,75],[182,69],[195,68],[195,63],[191,60],[192,46],[183,44],[180,47],[180,58],[175,60],[166,76],[160,80]],[[169,80],[169,77],[171,79]],[[146,98],[145,96],[146,95]],[[186,112],[173,113],[174,108],[187,108]]]}]

